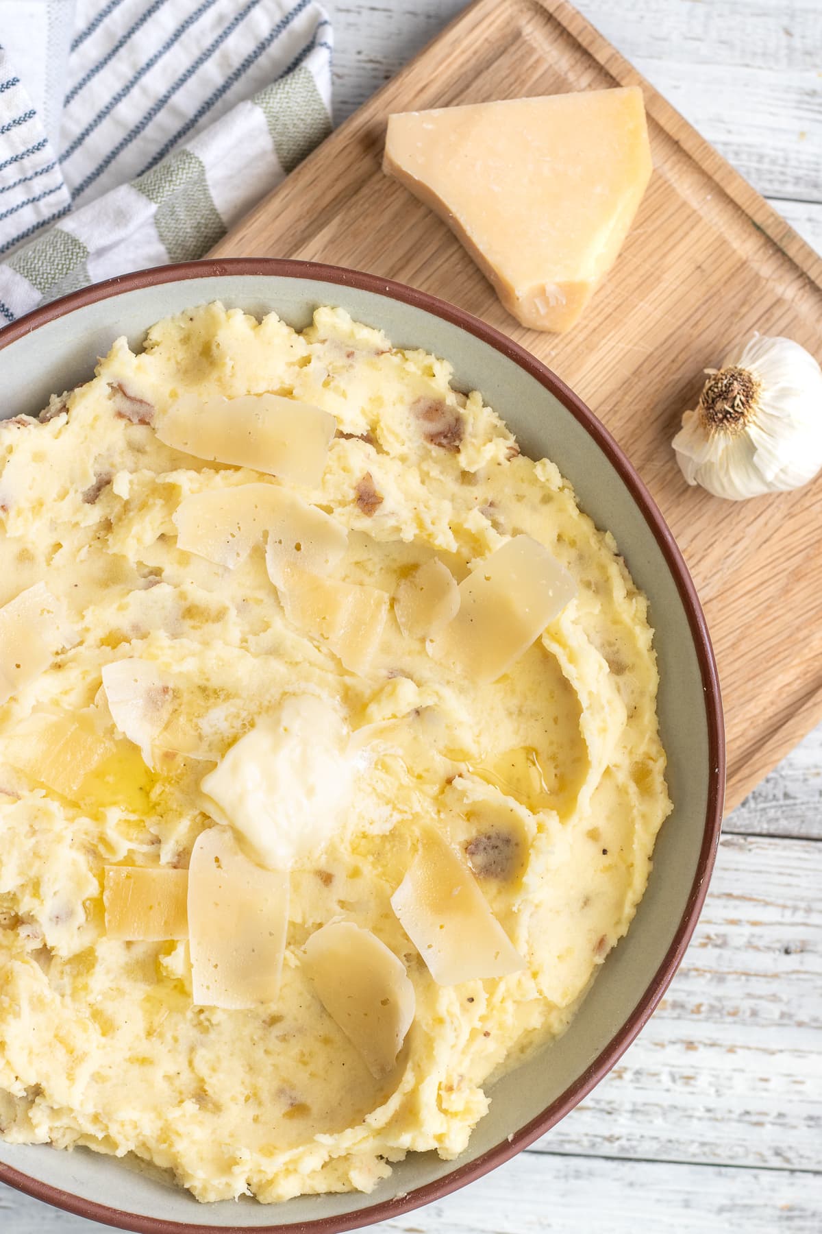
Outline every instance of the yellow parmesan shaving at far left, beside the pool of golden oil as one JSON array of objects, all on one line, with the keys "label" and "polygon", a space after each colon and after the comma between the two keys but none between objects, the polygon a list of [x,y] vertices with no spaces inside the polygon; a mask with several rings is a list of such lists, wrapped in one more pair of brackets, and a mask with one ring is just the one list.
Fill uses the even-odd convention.
[{"label": "yellow parmesan shaving at far left, beside the pool of golden oil", "polygon": [[90,716],[36,712],[10,734],[4,758],[32,780],[76,801],[85,777],[113,753],[113,740],[100,734]]}]

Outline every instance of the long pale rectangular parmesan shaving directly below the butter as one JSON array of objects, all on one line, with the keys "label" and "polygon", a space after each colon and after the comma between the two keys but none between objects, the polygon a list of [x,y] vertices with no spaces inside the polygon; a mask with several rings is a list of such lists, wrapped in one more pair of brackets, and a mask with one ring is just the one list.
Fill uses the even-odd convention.
[{"label": "long pale rectangular parmesan shaving directly below the butter", "polygon": [[240,853],[227,827],[195,840],[189,865],[193,1002],[239,1009],[274,1002],[288,926],[288,875]]}]

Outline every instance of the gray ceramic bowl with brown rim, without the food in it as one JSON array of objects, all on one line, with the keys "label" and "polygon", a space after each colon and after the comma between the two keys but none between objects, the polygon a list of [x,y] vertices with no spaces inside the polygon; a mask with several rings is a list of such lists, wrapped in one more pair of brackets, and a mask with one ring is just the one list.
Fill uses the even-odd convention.
[{"label": "gray ceramic bowl with brown rim, without the food in it", "polygon": [[659,659],[659,722],[674,812],[627,937],[604,964],[571,1029],[492,1088],[488,1116],[456,1161],[412,1154],[368,1196],[198,1204],[164,1177],[85,1149],[0,1141],[0,1180],[70,1212],[144,1234],[230,1228],[335,1234],[441,1198],[508,1160],[571,1111],[616,1062],[659,1002],[705,898],[720,833],[725,749],[716,666],[702,612],[672,536],[636,471],[595,416],[555,374],[476,317],[368,274],[285,260],[195,262],[129,274],[28,313],[0,332],[4,413],[36,413],[52,391],[91,376],[120,334],[219,299],[274,308],[302,328],[339,305],[396,346],[446,357],[478,389],[525,453],[547,454],[579,505],[616,537],[651,603]]}]

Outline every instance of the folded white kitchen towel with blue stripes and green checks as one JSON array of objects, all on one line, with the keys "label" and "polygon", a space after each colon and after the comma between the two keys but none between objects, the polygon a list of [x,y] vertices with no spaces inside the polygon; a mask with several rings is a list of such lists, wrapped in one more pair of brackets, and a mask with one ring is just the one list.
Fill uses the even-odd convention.
[{"label": "folded white kitchen towel with blue stripes and green checks", "polygon": [[202,257],[330,130],[315,0],[0,0],[0,325]]}]

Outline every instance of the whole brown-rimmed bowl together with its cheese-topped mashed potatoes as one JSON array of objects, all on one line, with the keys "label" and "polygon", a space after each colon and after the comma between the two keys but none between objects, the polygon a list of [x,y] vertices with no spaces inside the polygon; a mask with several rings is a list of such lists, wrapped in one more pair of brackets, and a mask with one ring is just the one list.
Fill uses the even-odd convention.
[{"label": "whole brown-rimmed bowl together with its cheese-topped mashed potatoes", "polygon": [[478,1177],[705,896],[659,512],[524,349],[371,275],[166,267],[0,350],[0,1180],[165,1234]]}]

